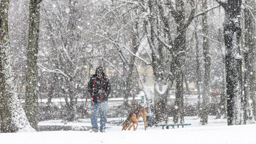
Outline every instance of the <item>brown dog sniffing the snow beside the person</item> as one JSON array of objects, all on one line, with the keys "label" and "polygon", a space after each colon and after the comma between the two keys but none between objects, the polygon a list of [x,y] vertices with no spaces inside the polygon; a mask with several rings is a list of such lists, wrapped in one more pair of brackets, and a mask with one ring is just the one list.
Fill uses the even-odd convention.
[{"label": "brown dog sniffing the snow beside the person", "polygon": [[[139,117],[142,116],[143,118],[143,121],[144,121],[144,124],[145,124],[145,131],[146,131],[146,112],[145,112],[145,109],[139,104],[139,106],[137,108],[135,108],[134,110],[132,110],[130,113],[129,113],[129,116],[128,118],[124,121],[123,123],[123,130],[126,130],[128,128],[128,130],[130,131],[130,129],[132,128],[133,126],[133,130],[136,131],[137,130],[137,127],[138,127],[138,120],[139,120]],[[136,127],[135,127],[136,125]]]}]

